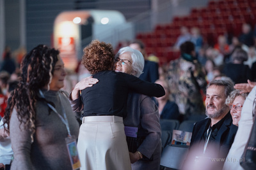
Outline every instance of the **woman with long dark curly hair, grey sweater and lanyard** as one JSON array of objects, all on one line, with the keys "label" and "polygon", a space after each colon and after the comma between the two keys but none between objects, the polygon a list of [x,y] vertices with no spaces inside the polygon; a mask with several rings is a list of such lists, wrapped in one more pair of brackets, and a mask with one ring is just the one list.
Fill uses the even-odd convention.
[{"label": "woman with long dark curly hair, grey sweater and lanyard", "polygon": [[79,125],[60,91],[66,72],[59,51],[38,45],[25,55],[4,124],[10,132],[12,169],[72,169],[65,139],[77,139]]}]

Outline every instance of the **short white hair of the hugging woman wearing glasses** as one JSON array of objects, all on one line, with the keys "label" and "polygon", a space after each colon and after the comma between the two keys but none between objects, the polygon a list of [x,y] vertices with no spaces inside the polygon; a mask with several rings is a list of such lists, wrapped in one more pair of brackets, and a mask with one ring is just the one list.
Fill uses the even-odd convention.
[{"label": "short white hair of the hugging woman wearing glasses", "polygon": [[138,50],[132,49],[129,46],[125,46],[123,48],[120,48],[120,50],[116,53],[116,57],[119,57],[119,55],[122,55],[123,53],[130,53],[132,58],[132,69],[136,71],[136,74],[134,76],[139,77],[140,74],[143,71],[144,68],[144,57],[142,53]]}]

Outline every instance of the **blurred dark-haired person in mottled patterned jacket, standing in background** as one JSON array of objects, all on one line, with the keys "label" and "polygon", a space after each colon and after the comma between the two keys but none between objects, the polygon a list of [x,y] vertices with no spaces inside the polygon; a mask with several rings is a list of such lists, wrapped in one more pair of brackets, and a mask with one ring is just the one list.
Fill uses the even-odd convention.
[{"label": "blurred dark-haired person in mottled patterned jacket, standing in background", "polygon": [[179,59],[172,60],[168,69],[168,84],[172,94],[170,101],[179,106],[184,119],[193,115],[204,115],[204,101],[207,81],[202,66],[195,57],[195,45],[186,41],[180,45]]}]

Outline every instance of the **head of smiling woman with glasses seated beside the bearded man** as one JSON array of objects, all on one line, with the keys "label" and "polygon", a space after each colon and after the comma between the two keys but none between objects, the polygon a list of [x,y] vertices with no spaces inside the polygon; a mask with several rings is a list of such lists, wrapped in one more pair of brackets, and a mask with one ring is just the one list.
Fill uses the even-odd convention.
[{"label": "head of smiling woman with glasses seated beside the bearded man", "polygon": [[225,103],[230,107],[233,124],[236,126],[238,126],[238,122],[241,118],[241,111],[247,96],[248,94],[241,93],[241,90],[234,90],[226,99]]}]

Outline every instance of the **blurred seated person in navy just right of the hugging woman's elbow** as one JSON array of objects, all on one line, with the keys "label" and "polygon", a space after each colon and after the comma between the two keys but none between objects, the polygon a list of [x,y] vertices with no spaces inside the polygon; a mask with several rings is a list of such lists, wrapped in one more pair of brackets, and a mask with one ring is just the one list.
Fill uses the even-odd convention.
[{"label": "blurred seated person in navy just right of the hugging woman's elbow", "polygon": [[168,82],[165,80],[156,80],[157,84],[162,85],[165,90],[165,95],[156,97],[157,106],[159,110],[159,117],[163,119],[179,120],[179,107],[175,102],[169,101],[170,89]]}]

